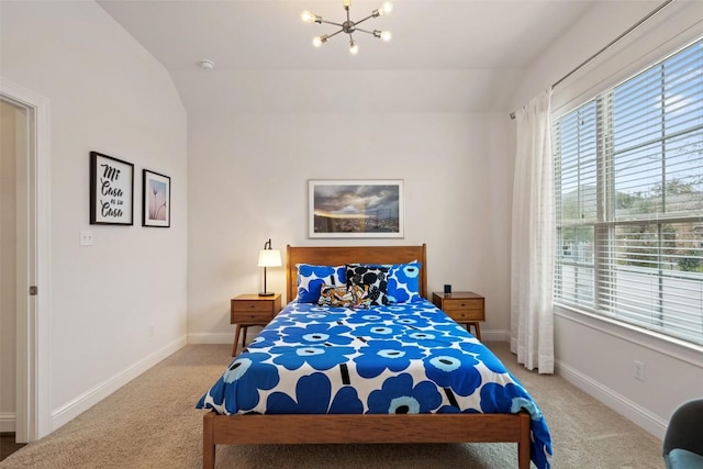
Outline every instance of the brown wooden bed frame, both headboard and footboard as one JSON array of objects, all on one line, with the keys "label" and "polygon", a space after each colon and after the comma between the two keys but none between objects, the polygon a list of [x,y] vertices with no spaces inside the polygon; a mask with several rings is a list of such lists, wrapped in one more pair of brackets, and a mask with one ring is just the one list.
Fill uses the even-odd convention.
[{"label": "brown wooden bed frame, both headboard and footboard", "polygon": [[[422,263],[420,289],[427,298],[426,246],[339,246],[287,248],[286,293],[297,293],[295,264]],[[203,416],[202,466],[213,469],[216,445],[343,443],[516,443],[517,467],[529,468],[531,418],[518,414],[349,414]]]}]

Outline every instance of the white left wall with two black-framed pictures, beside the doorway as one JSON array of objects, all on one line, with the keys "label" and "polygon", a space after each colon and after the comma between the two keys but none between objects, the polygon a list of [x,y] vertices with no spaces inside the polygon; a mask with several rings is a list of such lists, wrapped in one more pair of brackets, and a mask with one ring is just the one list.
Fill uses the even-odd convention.
[{"label": "white left wall with two black-framed pictures, beside the doorway", "polygon": [[[185,344],[187,119],[163,66],[97,3],[1,2],[0,16],[2,78],[51,101],[51,389],[40,392],[55,428]],[[135,165],[134,226],[89,224],[90,150]],[[143,168],[171,177],[170,228],[141,226]],[[80,230],[94,246],[79,246]]]}]

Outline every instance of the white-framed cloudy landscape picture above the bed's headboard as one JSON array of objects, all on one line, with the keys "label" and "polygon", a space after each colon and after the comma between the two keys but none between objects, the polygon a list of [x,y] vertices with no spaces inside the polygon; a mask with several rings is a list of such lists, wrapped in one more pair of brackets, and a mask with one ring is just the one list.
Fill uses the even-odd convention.
[{"label": "white-framed cloudy landscape picture above the bed's headboard", "polygon": [[310,180],[310,237],[403,237],[403,181]]}]

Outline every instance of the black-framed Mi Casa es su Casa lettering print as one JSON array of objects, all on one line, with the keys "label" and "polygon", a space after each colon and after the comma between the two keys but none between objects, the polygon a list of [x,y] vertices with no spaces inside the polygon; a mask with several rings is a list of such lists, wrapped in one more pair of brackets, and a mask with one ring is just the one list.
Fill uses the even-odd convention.
[{"label": "black-framed Mi Casa es su Casa lettering print", "polygon": [[90,152],[90,224],[132,225],[134,165]]}]

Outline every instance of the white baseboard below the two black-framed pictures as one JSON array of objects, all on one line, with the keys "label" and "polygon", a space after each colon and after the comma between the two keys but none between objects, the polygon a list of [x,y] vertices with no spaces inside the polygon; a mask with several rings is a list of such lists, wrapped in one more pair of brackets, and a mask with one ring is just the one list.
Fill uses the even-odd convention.
[{"label": "white baseboard below the two black-framed pictures", "polygon": [[187,344],[186,336],[182,336],[170,344],[156,350],[154,354],[137,361],[112,378],[83,392],[67,404],[55,409],[52,412],[52,432],[76,418],[82,412],[96,405],[98,402],[122,388],[144,371],[152,368],[163,359],[167,358]]}]

